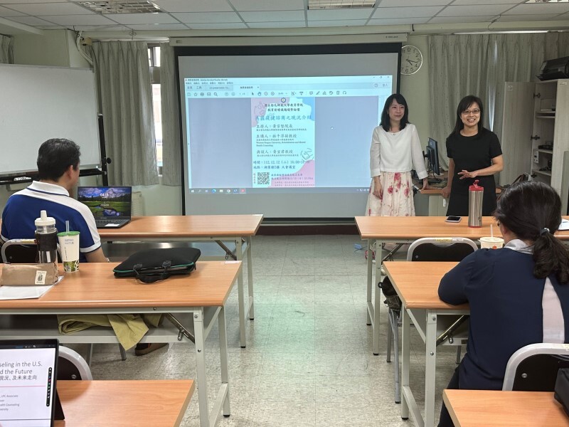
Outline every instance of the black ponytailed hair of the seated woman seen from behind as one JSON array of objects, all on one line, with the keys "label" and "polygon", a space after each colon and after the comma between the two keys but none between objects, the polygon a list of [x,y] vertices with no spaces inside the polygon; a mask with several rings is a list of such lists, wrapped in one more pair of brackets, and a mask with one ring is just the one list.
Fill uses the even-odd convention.
[{"label": "black ponytailed hair of the seated woman seen from behind", "polygon": [[569,283],[569,251],[553,233],[561,223],[561,199],[551,186],[521,181],[506,189],[494,217],[523,241],[533,241],[533,275],[555,274],[559,283]]}]

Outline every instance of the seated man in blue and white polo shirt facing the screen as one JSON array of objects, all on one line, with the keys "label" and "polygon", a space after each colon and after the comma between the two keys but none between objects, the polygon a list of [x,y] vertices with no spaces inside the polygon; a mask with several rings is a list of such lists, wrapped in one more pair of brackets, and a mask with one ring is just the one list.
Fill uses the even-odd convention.
[{"label": "seated man in blue and white polo shirt facing the screen", "polygon": [[[38,151],[38,177],[28,188],[12,194],[2,212],[0,246],[11,238],[33,238],[40,211],[55,218],[55,228],[79,231],[80,262],[107,263],[95,218],[84,204],[70,197],[79,181],[78,144],[69,139],[48,139]],[[137,344],[137,355],[164,347],[166,343]]]}]

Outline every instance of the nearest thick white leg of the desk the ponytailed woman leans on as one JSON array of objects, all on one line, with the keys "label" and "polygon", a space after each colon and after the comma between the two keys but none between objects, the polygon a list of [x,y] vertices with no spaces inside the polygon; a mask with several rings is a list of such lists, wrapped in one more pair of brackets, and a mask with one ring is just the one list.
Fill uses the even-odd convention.
[{"label": "nearest thick white leg of the desk the ponytailed woman leans on", "polygon": [[437,367],[437,313],[427,310],[425,334],[425,427],[435,426],[435,369]]}]

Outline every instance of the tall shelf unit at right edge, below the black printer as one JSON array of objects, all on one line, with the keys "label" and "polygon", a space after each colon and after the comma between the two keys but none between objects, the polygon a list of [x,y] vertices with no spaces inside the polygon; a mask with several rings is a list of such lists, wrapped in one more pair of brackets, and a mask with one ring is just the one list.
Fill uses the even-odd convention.
[{"label": "tall shelf unit at right edge, below the black printer", "polygon": [[[563,174],[565,152],[569,151],[569,79],[506,82],[504,94],[500,184],[511,184],[517,176],[529,173],[559,192],[565,212],[568,194],[562,194],[562,188],[569,180]],[[553,149],[540,148],[543,145],[553,145]]]}]

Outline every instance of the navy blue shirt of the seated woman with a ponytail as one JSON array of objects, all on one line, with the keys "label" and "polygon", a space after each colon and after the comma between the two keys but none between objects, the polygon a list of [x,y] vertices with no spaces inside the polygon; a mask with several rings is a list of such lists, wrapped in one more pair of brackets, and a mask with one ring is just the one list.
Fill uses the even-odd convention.
[{"label": "navy blue shirt of the seated woman with a ponytail", "polygon": [[[511,355],[543,342],[543,288],[533,275],[531,253],[479,249],[443,276],[439,297],[470,305],[467,354],[459,366],[460,389],[501,390]],[[569,285],[549,278],[558,295],[569,342]]]}]

